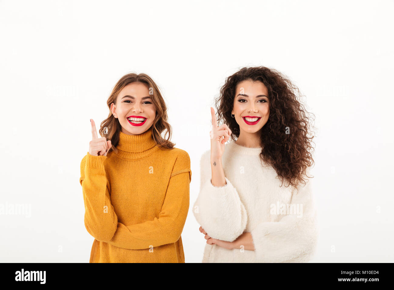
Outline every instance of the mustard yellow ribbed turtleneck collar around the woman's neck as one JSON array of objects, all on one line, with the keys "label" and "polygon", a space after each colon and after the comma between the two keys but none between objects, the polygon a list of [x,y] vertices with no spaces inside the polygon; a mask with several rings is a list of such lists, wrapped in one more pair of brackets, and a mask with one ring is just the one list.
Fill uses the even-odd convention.
[{"label": "mustard yellow ribbed turtleneck collar around the woman's neck", "polygon": [[122,131],[119,133],[117,149],[130,153],[144,152],[156,146],[152,138],[152,129],[138,135],[128,135]]}]

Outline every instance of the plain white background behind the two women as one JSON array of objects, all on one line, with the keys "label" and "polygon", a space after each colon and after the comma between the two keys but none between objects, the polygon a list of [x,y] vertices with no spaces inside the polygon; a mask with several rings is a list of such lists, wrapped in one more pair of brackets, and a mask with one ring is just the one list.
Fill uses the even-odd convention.
[{"label": "plain white background behind the two women", "polygon": [[[310,262],[394,262],[393,1],[0,1],[0,262],[89,262],[80,161],[89,119],[126,73],[162,88],[191,158],[186,262],[206,240],[192,213],[210,109],[225,78],[288,75],[316,116],[320,235]],[[97,126],[98,127],[98,126]]]}]

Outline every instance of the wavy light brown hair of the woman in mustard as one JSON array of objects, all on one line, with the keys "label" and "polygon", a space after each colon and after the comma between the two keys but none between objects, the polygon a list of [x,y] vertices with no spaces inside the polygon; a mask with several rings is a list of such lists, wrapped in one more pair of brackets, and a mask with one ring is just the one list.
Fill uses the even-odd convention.
[{"label": "wavy light brown hair of the woman in mustard", "polygon": [[[116,104],[117,96],[119,95],[121,90],[125,86],[133,82],[140,82],[142,84],[145,84],[145,86],[147,86],[149,90],[149,94],[151,94],[152,102],[156,107],[156,116],[154,118],[152,126],[148,129],[148,130],[152,130],[152,137],[154,141],[161,148],[167,148],[167,149],[174,148],[175,144],[169,141],[171,139],[172,132],[171,132],[171,125],[167,122],[168,120],[167,106],[165,105],[164,99],[162,97],[162,94],[160,93],[158,85],[152,80],[151,77],[149,77],[149,75],[145,73],[140,73],[140,74],[128,73],[127,75],[121,77],[121,79],[119,79],[118,82],[113,87],[112,92],[107,100],[107,105],[108,105],[108,109],[110,110],[110,113],[108,114],[108,118],[106,118],[100,124],[99,133],[101,137],[106,137],[107,141],[111,140],[112,146],[110,150],[108,150],[108,153],[110,153],[112,150],[115,153],[118,152],[116,146],[119,144],[119,133],[122,129],[119,120],[115,118],[112,114],[111,104],[112,103]],[[168,138],[166,139],[164,139],[161,135],[164,130],[167,130],[165,135],[168,134]]]}]

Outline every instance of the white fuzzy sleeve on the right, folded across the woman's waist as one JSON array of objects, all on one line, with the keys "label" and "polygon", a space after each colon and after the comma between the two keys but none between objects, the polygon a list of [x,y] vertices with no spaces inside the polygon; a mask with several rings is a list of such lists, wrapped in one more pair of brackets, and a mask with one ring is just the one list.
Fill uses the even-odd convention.
[{"label": "white fuzzy sleeve on the right, folded across the woman's waist", "polygon": [[[292,193],[290,208],[278,222],[260,223],[251,231],[256,262],[307,262],[316,249],[318,226],[311,180]],[[296,190],[296,189],[295,189]]]}]

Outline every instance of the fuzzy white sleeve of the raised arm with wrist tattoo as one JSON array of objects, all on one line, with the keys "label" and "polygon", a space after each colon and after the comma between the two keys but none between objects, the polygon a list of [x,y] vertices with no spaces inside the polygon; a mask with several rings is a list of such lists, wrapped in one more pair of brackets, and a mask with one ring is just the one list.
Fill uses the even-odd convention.
[{"label": "fuzzy white sleeve of the raised arm with wrist tattoo", "polygon": [[224,186],[212,185],[210,150],[202,155],[200,168],[200,192],[193,205],[195,219],[211,238],[234,241],[246,228],[245,206],[227,177]]}]

